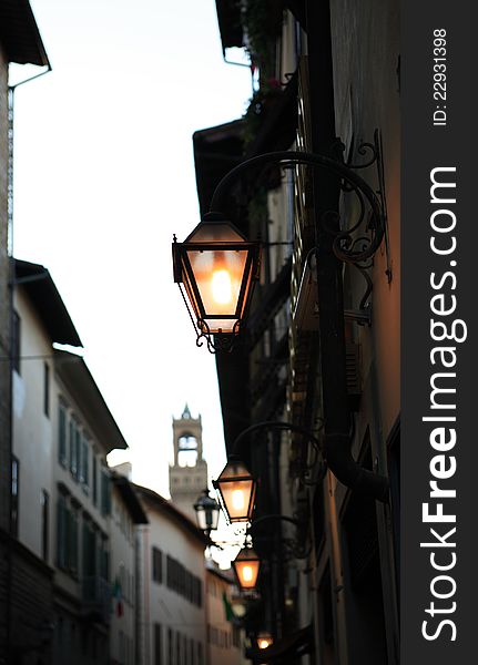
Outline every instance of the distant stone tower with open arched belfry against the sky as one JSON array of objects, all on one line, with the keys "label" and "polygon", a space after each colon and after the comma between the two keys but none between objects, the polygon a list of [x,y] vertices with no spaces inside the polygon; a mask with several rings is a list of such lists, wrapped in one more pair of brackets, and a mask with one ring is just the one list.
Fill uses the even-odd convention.
[{"label": "distant stone tower with open arched belfry against the sky", "polygon": [[170,466],[171,500],[196,521],[194,503],[207,487],[207,464],[203,459],[201,416],[193,418],[185,405],[181,418],[173,418],[174,463]]}]

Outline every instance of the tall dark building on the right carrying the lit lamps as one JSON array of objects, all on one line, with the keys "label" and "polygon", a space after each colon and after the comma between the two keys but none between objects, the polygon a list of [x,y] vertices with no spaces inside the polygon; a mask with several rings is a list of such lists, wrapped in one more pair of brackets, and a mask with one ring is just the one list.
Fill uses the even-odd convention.
[{"label": "tall dark building on the right carrying the lit lamps", "polygon": [[[251,54],[255,92],[244,117],[194,134],[202,214],[234,162],[292,150],[353,165],[283,170],[276,161],[244,171],[223,197],[226,218],[263,241],[247,335],[216,355],[227,451],[252,424],[292,426],[265,427],[241,449],[261,479],[255,516],[263,518],[257,529],[253,519],[261,601],[246,631],[252,645],[264,630],[274,638],[248,655],[396,665],[398,3],[218,0],[216,8],[224,52]],[[365,183],[358,196],[350,171]],[[367,187],[375,217],[360,213]]]}]

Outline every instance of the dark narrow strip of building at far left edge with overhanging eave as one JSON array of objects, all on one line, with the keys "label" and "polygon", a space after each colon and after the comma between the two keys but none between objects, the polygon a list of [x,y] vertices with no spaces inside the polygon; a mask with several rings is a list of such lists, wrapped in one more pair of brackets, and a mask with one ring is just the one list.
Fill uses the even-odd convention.
[{"label": "dark narrow strip of building at far left edge with overhanging eave", "polygon": [[[0,2],[0,663],[14,663],[21,653],[42,651],[43,633],[34,631],[18,642],[14,634],[16,613],[34,616],[24,589],[35,579],[48,576],[48,571],[31,561],[18,548],[10,533],[11,469],[11,212],[12,212],[12,130],[13,90],[9,88],[10,63],[30,63],[49,66],[48,57],[29,2]],[[39,590],[41,593],[41,590]],[[41,607],[41,605],[40,605]],[[48,633],[48,631],[47,631]]]}]

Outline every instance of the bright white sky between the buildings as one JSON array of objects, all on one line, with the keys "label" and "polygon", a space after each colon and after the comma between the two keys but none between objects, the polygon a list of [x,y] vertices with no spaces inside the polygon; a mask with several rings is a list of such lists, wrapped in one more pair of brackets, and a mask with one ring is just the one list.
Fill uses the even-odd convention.
[{"label": "bright white sky between the buildings", "polygon": [[130,444],[114,461],[167,495],[185,402],[210,475],[225,463],[215,362],[171,242],[199,222],[192,134],[242,115],[251,74],[223,62],[214,0],[31,4],[53,71],[16,92],[14,255],[51,272]]}]

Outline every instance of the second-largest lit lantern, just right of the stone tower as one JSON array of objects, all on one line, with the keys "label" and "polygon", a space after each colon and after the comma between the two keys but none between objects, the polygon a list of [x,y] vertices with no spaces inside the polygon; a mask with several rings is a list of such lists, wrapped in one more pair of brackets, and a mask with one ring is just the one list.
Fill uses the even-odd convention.
[{"label": "second-largest lit lantern, just right of the stone tower", "polygon": [[230,522],[251,521],[254,510],[256,481],[240,460],[230,460],[213,485]]}]

